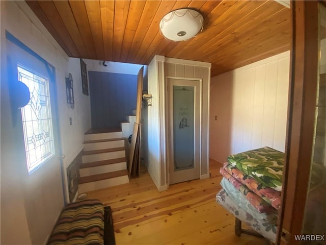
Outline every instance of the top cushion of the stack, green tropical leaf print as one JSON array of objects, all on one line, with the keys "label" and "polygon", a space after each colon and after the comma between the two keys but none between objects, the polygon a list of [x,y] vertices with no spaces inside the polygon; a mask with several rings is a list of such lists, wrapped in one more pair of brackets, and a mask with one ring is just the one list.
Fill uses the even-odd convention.
[{"label": "top cushion of the stack, green tropical leaf print", "polygon": [[282,190],[284,153],[265,146],[230,155],[228,162],[264,187]]}]

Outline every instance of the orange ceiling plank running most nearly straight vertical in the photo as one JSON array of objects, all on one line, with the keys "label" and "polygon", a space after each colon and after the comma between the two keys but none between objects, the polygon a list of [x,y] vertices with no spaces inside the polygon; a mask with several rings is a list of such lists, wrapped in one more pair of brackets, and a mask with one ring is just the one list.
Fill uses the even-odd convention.
[{"label": "orange ceiling plank running most nearly straight vertical in the photo", "polygon": [[[114,1],[100,1],[101,26],[103,32],[105,60],[112,58],[113,27],[115,15]],[[95,51],[94,51],[95,52]]]}]

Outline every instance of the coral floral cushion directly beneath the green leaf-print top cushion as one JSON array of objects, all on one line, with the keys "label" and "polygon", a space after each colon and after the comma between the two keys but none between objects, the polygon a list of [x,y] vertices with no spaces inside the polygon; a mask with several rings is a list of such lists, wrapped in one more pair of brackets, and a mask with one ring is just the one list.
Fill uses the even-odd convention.
[{"label": "coral floral cushion directly beneath the green leaf-print top cushion", "polygon": [[252,177],[243,174],[239,169],[233,167],[227,162],[224,163],[224,169],[241,184],[246,185],[251,191],[261,197],[264,201],[270,204],[273,208],[279,210],[281,207],[281,192],[269,187],[264,187]]}]

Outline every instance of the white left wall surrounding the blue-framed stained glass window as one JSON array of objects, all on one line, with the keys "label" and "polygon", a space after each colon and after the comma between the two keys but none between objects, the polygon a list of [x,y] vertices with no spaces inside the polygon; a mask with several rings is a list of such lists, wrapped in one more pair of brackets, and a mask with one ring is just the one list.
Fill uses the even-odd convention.
[{"label": "white left wall surrounding the blue-framed stained glass window", "polygon": [[[44,164],[31,176],[27,174],[21,148],[21,124],[15,127],[12,124],[5,31],[56,68],[64,166],[68,166],[83,149],[84,132],[90,128],[91,122],[90,100],[89,96],[82,94],[79,61],[69,59],[28,5],[23,1],[0,1],[0,6],[1,244],[44,244],[64,206],[61,167],[58,161],[53,165]],[[73,110],[66,103],[65,78],[69,72],[74,79]],[[72,118],[72,126],[69,125],[69,117]]]}]

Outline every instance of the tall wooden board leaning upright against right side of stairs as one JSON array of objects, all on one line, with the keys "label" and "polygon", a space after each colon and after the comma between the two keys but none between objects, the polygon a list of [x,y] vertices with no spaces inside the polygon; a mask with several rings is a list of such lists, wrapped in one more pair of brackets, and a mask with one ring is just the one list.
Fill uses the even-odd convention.
[{"label": "tall wooden board leaning upright against right side of stairs", "polygon": [[128,165],[129,177],[131,175],[132,164],[134,163],[134,161],[138,162],[138,159],[134,159],[134,156],[140,157],[140,153],[139,153],[140,148],[139,147],[136,148],[136,141],[138,138],[140,138],[138,137],[138,134],[140,133],[139,124],[141,120],[141,111],[142,111],[143,74],[144,74],[144,66],[142,66],[142,68],[139,70],[138,77],[137,77],[137,107],[136,107],[136,119],[133,126],[131,146],[129,152],[129,165]]}]

